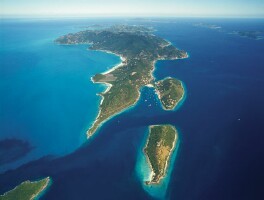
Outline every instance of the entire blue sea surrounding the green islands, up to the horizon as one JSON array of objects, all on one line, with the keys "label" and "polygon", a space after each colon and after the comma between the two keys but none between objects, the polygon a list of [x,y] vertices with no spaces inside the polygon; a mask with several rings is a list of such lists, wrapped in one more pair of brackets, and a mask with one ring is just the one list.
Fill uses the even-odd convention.
[{"label": "entire blue sea surrounding the green islands, up to the horizon", "polygon": [[[141,24],[188,52],[159,61],[154,75],[183,81],[186,100],[163,111],[151,88],[90,140],[104,85],[91,76],[114,55],[54,40],[89,25]],[[200,23],[203,23],[201,26]],[[212,28],[216,25],[221,28]],[[173,124],[180,144],[165,199],[264,199],[263,19],[1,19],[0,194],[46,176],[41,199],[153,199],[136,171],[153,124]],[[151,105],[151,106],[150,106]]]}]

